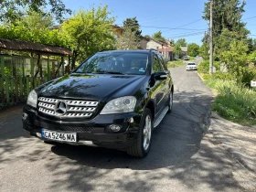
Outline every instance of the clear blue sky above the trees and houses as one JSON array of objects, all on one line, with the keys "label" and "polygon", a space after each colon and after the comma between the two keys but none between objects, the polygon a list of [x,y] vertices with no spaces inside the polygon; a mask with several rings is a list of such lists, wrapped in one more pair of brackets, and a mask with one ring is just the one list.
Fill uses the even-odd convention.
[{"label": "clear blue sky above the trees and houses", "polygon": [[[62,0],[72,11],[92,6],[108,5],[115,24],[122,27],[126,18],[136,16],[143,36],[152,36],[161,30],[166,39],[186,38],[187,43],[201,45],[208,30],[208,22],[202,19],[207,0]],[[256,0],[246,0],[243,21],[256,38]]]}]

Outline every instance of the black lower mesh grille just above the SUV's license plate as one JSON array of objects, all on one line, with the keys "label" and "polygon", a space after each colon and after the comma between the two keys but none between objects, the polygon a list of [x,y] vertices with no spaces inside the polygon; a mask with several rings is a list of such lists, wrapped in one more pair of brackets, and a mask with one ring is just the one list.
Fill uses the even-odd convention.
[{"label": "black lower mesh grille just above the SUV's license plate", "polygon": [[53,123],[45,123],[35,121],[35,125],[44,129],[52,130],[52,131],[69,131],[69,132],[77,132],[77,133],[91,133],[93,127],[81,127],[81,126],[72,126],[72,125],[62,125],[62,124],[53,124]]}]

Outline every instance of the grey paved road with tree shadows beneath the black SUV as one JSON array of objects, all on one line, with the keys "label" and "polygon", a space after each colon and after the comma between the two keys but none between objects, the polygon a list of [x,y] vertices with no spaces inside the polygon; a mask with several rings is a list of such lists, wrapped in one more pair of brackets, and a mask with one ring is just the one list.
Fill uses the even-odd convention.
[{"label": "grey paved road with tree shadows beneath the black SUV", "polygon": [[0,113],[0,191],[243,191],[232,159],[203,130],[212,92],[196,71],[171,69],[174,109],[137,159],[116,150],[54,146],[22,131],[22,107]]}]

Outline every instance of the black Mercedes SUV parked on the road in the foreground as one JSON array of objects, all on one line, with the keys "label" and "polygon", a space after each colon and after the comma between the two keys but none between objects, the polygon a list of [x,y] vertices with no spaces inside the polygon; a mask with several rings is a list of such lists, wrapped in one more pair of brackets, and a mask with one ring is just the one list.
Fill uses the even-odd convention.
[{"label": "black Mercedes SUV parked on the road in the foreground", "polygon": [[171,112],[174,85],[155,50],[112,50],[31,91],[23,127],[46,142],[148,154],[152,131]]}]

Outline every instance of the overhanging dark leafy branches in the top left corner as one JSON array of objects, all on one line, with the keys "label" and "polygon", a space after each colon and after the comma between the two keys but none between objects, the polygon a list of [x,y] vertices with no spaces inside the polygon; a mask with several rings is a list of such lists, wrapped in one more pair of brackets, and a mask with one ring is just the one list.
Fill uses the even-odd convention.
[{"label": "overhanging dark leafy branches in the top left corner", "polygon": [[[50,7],[48,12],[43,8]],[[67,9],[61,0],[2,0],[0,1],[0,21],[15,22],[21,16],[26,14],[24,10],[30,13],[36,12],[44,16],[54,15],[56,20],[61,22],[66,13],[71,14],[71,10]]]}]

